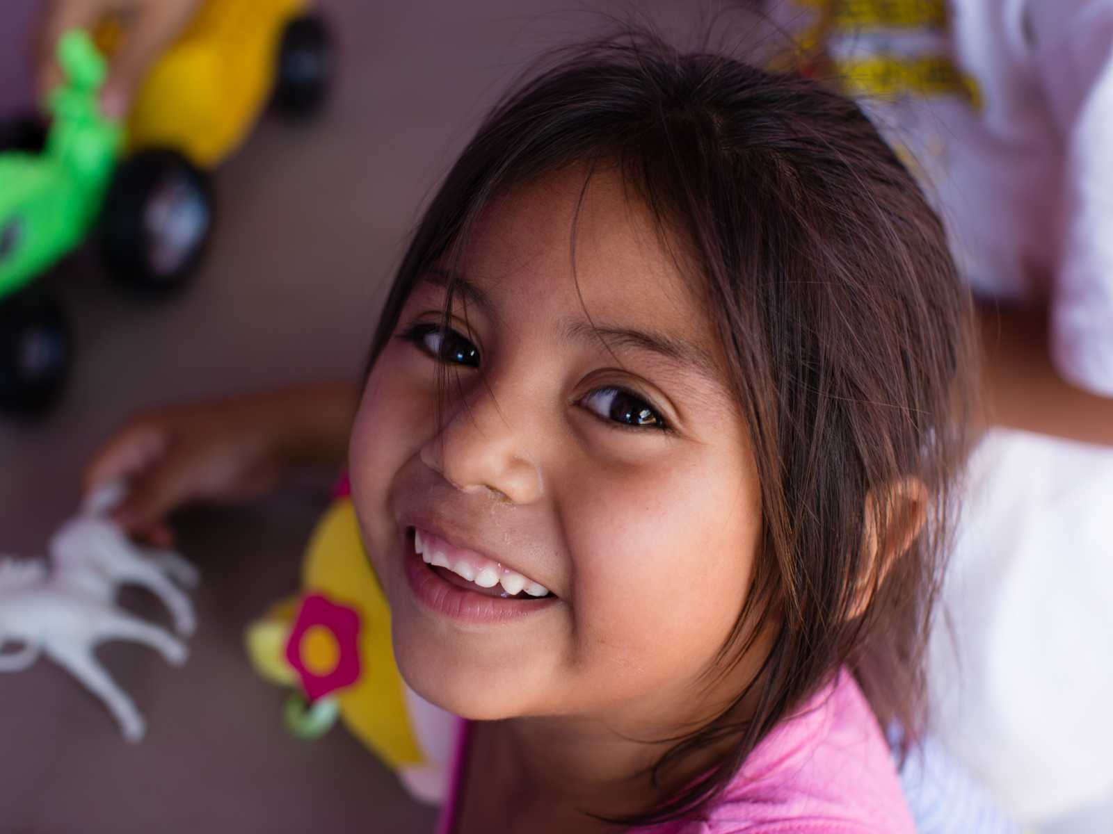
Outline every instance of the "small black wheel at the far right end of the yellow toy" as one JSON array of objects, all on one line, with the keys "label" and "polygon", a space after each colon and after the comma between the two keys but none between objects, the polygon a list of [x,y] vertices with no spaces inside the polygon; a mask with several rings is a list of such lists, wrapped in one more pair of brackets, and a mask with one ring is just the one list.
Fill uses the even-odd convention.
[{"label": "small black wheel at the far right end of the yellow toy", "polygon": [[283,31],[275,69],[275,108],[306,117],[321,109],[333,83],[336,51],[325,21],[317,14],[294,18]]}]

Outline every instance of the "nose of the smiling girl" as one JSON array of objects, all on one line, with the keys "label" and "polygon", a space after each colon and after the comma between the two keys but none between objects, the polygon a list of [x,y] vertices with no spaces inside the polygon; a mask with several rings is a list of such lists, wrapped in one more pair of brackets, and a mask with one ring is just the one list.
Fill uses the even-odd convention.
[{"label": "nose of the smiling girl", "polygon": [[482,384],[445,409],[441,431],[421,449],[422,463],[461,492],[523,505],[542,496],[541,470],[524,444],[525,420],[514,419],[519,409]]}]

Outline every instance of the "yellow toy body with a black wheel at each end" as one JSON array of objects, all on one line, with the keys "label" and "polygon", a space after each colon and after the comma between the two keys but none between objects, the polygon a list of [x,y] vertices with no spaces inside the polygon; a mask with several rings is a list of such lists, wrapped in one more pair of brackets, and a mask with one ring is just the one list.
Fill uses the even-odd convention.
[{"label": "yellow toy body with a black wheel at each end", "polygon": [[[121,27],[96,33],[107,54]],[[208,0],[151,68],[125,125],[128,158],[101,218],[114,272],[152,289],[196,266],[211,225],[201,171],[247,137],[267,106],[304,116],[332,79],[328,30],[306,0]]]}]

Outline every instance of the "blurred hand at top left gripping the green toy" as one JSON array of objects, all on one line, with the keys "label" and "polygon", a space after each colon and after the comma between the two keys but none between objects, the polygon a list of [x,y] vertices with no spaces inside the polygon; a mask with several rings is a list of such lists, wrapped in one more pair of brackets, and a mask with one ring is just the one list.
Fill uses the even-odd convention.
[{"label": "blurred hand at top left gripping the green toy", "polygon": [[112,58],[101,93],[105,115],[122,118],[147,67],[185,28],[199,4],[200,0],[47,0],[38,42],[39,100],[61,81],[55,44],[62,32],[92,27],[106,14],[129,12],[127,36]]}]

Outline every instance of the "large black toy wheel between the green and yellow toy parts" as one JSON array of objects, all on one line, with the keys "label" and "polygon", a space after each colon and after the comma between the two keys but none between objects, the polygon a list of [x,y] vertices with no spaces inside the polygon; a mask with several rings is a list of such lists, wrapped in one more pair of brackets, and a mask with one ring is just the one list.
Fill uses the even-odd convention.
[{"label": "large black toy wheel between the green and yellow toy parts", "polygon": [[213,229],[208,179],[177,151],[140,151],[116,169],[100,226],[114,275],[140,290],[175,290],[197,268]]}]

